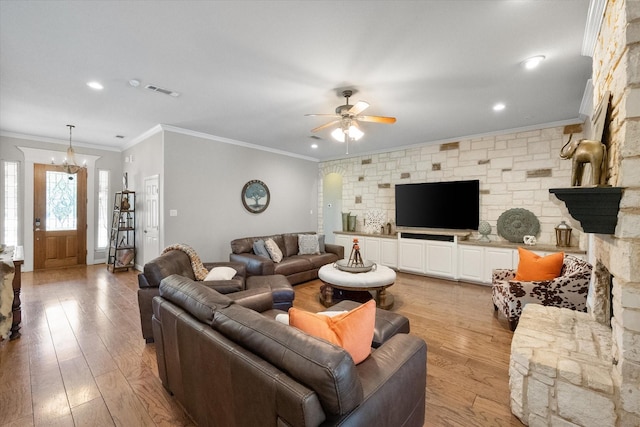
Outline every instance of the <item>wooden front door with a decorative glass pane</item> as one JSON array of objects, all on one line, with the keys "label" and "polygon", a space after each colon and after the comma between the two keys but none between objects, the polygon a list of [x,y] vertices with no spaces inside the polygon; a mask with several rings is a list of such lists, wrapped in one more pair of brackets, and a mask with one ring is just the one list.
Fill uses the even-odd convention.
[{"label": "wooden front door with a decorative glass pane", "polygon": [[35,270],[87,263],[87,170],[34,165]]}]

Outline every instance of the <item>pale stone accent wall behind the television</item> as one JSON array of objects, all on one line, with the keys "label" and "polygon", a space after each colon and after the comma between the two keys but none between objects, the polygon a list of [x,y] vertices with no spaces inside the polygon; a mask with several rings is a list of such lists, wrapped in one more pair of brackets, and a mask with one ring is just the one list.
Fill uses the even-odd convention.
[{"label": "pale stone accent wall behind the television", "polygon": [[[357,230],[370,209],[382,209],[389,221],[395,219],[396,184],[479,179],[480,219],[491,224],[491,240],[504,240],[496,230],[500,214],[525,208],[540,221],[538,242],[555,245],[554,228],[570,221],[564,205],[549,194],[549,188],[567,187],[571,179],[571,161],[559,157],[569,138],[563,131],[554,127],[328,161],[320,164],[320,174],[342,173],[343,211],[357,215]],[[581,237],[574,226],[572,244]]]}]

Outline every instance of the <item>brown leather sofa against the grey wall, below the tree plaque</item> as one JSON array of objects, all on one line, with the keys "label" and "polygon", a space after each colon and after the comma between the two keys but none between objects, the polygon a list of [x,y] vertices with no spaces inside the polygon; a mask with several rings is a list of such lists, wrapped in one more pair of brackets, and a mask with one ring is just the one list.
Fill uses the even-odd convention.
[{"label": "brown leather sofa against the grey wall, below the tree plaque", "polygon": [[[325,264],[334,263],[344,258],[344,247],[325,244],[325,252],[318,255],[298,255],[298,234],[285,233],[272,236],[243,237],[231,241],[229,261],[241,262],[245,265],[248,276],[265,276],[282,274],[292,285],[318,278],[318,270]],[[282,251],[282,261],[275,263],[270,258],[256,255],[253,243],[256,240],[273,239]]]}]

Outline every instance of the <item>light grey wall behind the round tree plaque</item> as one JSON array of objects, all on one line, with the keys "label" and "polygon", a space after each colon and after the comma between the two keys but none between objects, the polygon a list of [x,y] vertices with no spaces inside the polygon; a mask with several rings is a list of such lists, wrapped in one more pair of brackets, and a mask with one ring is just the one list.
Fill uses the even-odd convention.
[{"label": "light grey wall behind the round tree plaque", "polygon": [[[164,159],[162,247],[186,243],[204,261],[226,261],[233,239],[317,230],[314,161],[171,131],[164,132]],[[240,197],[253,179],[271,193],[260,214],[246,211]]]}]

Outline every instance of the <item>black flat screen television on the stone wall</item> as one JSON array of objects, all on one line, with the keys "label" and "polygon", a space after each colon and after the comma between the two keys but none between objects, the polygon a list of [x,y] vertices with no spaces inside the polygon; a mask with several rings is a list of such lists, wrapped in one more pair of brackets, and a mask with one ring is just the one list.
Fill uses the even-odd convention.
[{"label": "black flat screen television on the stone wall", "polygon": [[396,185],[398,227],[477,230],[480,181]]}]

